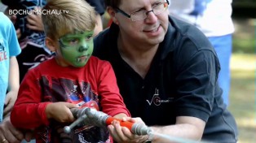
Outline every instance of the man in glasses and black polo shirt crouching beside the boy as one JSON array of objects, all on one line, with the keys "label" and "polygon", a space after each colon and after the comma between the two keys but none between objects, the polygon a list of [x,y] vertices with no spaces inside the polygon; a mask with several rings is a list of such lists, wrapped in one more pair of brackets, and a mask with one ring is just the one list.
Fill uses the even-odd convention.
[{"label": "man in glasses and black polo shirt crouching beside the boy", "polygon": [[[132,117],[171,137],[236,142],[217,84],[218,58],[204,34],[168,17],[168,1],[105,3],[113,24],[95,38],[95,55],[112,63]],[[141,141],[117,124],[108,128],[118,142]]]}]

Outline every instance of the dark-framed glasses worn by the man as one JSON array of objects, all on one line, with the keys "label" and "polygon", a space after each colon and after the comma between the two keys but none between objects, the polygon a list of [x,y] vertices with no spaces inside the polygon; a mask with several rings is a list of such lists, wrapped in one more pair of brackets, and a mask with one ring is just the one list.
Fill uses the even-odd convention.
[{"label": "dark-framed glasses worn by the man", "polygon": [[[160,2],[157,4],[157,6],[153,6],[152,12],[155,15],[161,14],[163,11],[166,11],[167,7],[169,5],[169,1],[166,0],[166,2]],[[134,13],[131,13],[128,15],[125,11],[122,11],[118,7],[116,8],[117,12],[120,12],[122,15],[125,15],[126,17],[130,18],[132,21],[139,21],[139,20],[144,20],[148,17],[148,13],[151,11],[136,11]]]}]

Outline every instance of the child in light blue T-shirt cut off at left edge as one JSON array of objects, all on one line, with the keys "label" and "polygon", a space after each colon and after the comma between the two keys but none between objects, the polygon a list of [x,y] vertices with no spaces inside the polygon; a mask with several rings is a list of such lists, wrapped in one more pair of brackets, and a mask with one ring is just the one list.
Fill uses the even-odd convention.
[{"label": "child in light blue T-shirt cut off at left edge", "polygon": [[11,109],[19,89],[19,67],[16,55],[20,45],[11,20],[0,12],[0,142],[19,143],[23,132],[14,128],[10,121]]}]

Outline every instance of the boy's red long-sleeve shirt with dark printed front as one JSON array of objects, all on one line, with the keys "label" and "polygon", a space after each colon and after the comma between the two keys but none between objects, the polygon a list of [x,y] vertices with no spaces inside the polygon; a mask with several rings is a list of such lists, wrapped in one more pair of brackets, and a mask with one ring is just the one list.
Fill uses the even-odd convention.
[{"label": "boy's red long-sleeve shirt with dark printed front", "polygon": [[[29,70],[11,111],[11,123],[16,128],[37,128],[37,142],[58,141],[55,138],[60,136],[60,132],[55,130],[63,126],[47,119],[45,110],[50,102],[73,102],[98,110],[100,108],[112,116],[119,113],[130,116],[110,63],[93,56],[85,67],[60,67],[52,58]],[[83,129],[77,136],[81,133],[82,140],[109,141],[108,132],[103,128]],[[81,139],[75,136],[76,133],[71,138]]]}]

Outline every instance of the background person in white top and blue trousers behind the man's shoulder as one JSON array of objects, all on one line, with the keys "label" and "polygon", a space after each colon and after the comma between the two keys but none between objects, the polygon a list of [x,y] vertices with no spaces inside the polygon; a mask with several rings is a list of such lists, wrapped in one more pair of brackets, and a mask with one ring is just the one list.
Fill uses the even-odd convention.
[{"label": "background person in white top and blue trousers behind the man's shoulder", "polygon": [[232,0],[172,0],[170,15],[199,28],[218,55],[221,70],[218,85],[224,103],[229,104],[230,58],[232,55]]}]

